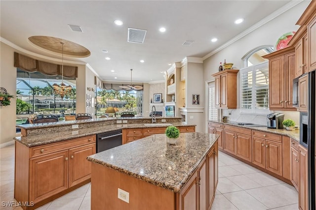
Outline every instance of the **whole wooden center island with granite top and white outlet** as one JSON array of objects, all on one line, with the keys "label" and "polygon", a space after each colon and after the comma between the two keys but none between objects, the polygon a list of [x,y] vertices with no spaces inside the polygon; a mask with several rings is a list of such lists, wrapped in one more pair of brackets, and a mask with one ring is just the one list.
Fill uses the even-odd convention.
[{"label": "whole wooden center island with granite top and white outlet", "polygon": [[[208,210],[218,180],[218,135],[164,134],[90,155],[91,210]],[[121,191],[123,190],[123,191]]]}]

